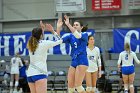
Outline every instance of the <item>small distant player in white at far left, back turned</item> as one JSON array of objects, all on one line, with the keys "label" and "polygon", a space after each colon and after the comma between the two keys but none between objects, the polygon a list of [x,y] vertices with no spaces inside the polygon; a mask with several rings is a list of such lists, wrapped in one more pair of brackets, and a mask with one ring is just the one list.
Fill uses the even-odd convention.
[{"label": "small distant player in white at far left, back turned", "polygon": [[[11,81],[10,81],[10,91],[12,90],[13,85],[15,86],[15,91],[19,84],[19,67],[23,66],[19,53],[16,53],[16,56],[11,58]],[[14,83],[15,80],[15,84]]]}]

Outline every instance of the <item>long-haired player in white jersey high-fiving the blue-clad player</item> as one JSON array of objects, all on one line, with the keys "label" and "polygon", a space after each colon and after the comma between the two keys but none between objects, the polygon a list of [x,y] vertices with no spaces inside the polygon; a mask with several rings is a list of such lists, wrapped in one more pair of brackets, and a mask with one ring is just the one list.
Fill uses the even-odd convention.
[{"label": "long-haired player in white jersey high-fiving the blue-clad player", "polygon": [[[62,22],[61,22],[62,23]],[[43,23],[41,22],[41,25]],[[46,25],[49,31],[53,31],[51,25]],[[28,41],[30,64],[27,70],[27,81],[31,93],[47,93],[47,51],[49,48],[62,43],[62,40],[42,40],[43,28],[34,28]]]}]

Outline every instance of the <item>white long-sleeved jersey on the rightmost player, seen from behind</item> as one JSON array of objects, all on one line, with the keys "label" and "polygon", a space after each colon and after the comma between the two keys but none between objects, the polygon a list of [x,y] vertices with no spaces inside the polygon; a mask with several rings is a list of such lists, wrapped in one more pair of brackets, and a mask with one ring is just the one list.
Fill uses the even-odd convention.
[{"label": "white long-sleeved jersey on the rightmost player, seen from behind", "polygon": [[130,54],[127,51],[123,51],[119,55],[118,65],[122,62],[122,67],[124,66],[133,66],[133,61],[136,61],[138,64],[140,61],[138,60],[135,52],[130,51]]}]

